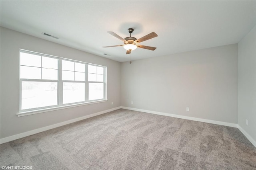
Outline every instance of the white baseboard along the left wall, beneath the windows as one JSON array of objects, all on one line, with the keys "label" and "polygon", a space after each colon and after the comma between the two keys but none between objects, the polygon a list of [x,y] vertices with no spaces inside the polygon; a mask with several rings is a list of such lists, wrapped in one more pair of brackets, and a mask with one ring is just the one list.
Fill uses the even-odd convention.
[{"label": "white baseboard along the left wall, beneath the windows", "polygon": [[93,113],[93,114],[90,114],[90,115],[78,117],[76,119],[71,119],[71,120],[68,120],[68,121],[63,121],[63,122],[60,122],[60,123],[56,123],[54,125],[49,125],[49,126],[46,126],[46,127],[41,127],[39,129],[34,129],[32,131],[27,131],[27,132],[20,133],[20,134],[17,134],[17,135],[12,135],[10,137],[5,137],[5,138],[0,139],[0,143],[2,144],[2,143],[10,142],[10,141],[13,141],[13,140],[16,140],[16,139],[20,139],[22,137],[27,137],[27,136],[30,136],[30,135],[34,135],[36,133],[40,133],[40,132],[47,131],[47,130],[50,130],[50,129],[53,129],[53,128],[56,128],[56,127],[60,127],[60,126],[63,126],[63,125],[74,123],[76,121],[80,121],[80,120],[83,120],[83,119],[88,119],[90,117],[101,115],[101,114],[104,114],[104,113],[107,113],[107,112],[110,112],[110,111],[114,111],[114,110],[117,110],[117,109],[120,109],[120,108],[121,107],[115,107],[115,108],[112,108],[112,109],[100,111],[100,112]]}]

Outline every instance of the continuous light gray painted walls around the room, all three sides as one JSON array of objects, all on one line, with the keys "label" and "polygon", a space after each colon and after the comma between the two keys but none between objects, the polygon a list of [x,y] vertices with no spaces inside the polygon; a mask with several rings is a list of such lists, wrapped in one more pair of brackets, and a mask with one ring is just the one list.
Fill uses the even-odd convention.
[{"label": "continuous light gray painted walls around the room, all three sides", "polygon": [[[254,27],[238,45],[129,64],[1,27],[1,138],[125,106],[238,123],[256,140],[255,31]],[[108,102],[17,117],[19,49],[107,66]]]}]

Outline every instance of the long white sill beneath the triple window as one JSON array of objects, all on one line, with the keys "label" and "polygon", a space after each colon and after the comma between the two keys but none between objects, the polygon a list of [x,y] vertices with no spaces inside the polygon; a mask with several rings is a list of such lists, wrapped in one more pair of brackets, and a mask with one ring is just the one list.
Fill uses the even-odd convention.
[{"label": "long white sill beneath the triple window", "polygon": [[20,116],[27,116],[27,115],[34,115],[34,114],[37,114],[37,113],[44,113],[44,112],[48,112],[48,111],[66,109],[66,108],[77,107],[77,106],[84,106],[84,105],[88,105],[88,104],[96,104],[96,103],[107,102],[107,101],[108,100],[99,100],[99,101],[94,101],[94,102],[86,102],[86,103],[80,103],[80,104],[71,104],[71,105],[66,105],[66,106],[51,107],[51,108],[47,108],[47,109],[38,109],[38,110],[33,110],[33,111],[24,111],[24,112],[17,113],[16,115],[18,117],[20,117]]}]

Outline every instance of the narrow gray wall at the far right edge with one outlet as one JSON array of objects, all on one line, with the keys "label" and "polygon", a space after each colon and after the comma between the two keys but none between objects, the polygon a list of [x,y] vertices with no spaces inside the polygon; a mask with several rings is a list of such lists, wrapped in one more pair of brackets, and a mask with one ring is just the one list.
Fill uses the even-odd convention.
[{"label": "narrow gray wall at the far right edge with one outlet", "polygon": [[[256,28],[238,43],[238,125],[256,141]],[[248,125],[246,125],[248,119]]]}]

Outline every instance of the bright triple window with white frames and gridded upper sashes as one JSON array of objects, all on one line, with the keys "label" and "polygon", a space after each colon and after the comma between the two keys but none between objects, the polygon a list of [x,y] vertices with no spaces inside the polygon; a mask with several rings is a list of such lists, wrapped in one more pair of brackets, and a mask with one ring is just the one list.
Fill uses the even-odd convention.
[{"label": "bright triple window with white frames and gridded upper sashes", "polygon": [[105,70],[20,50],[20,112],[106,100]]}]

